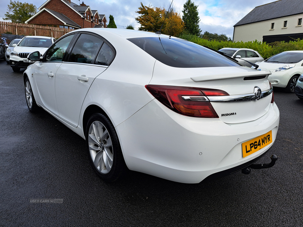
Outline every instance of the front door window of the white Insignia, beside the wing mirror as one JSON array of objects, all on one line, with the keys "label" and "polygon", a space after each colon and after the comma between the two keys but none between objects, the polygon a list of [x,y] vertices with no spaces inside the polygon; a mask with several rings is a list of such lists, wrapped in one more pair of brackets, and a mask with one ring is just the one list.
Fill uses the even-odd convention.
[{"label": "front door window of the white Insignia, beside the wing mirror", "polygon": [[66,49],[73,39],[74,34],[69,35],[58,42],[56,42],[51,48],[46,52],[45,60],[46,62],[62,62]]}]

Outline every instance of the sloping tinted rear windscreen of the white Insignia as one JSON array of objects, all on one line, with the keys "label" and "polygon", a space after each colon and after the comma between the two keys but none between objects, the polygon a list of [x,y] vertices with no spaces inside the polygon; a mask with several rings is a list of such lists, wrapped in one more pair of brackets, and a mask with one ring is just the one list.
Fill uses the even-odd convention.
[{"label": "sloping tinted rear windscreen of the white Insignia", "polygon": [[221,54],[176,38],[142,37],[128,39],[158,61],[177,68],[240,66]]}]

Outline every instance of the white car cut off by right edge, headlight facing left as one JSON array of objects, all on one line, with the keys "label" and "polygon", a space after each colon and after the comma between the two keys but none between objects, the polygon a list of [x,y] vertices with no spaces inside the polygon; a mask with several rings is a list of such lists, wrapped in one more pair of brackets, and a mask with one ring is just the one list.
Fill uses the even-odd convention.
[{"label": "white car cut off by right edge, headlight facing left", "polygon": [[293,93],[303,73],[303,50],[284,51],[256,65],[259,65],[258,70],[271,71],[268,79],[274,87],[282,87]]}]

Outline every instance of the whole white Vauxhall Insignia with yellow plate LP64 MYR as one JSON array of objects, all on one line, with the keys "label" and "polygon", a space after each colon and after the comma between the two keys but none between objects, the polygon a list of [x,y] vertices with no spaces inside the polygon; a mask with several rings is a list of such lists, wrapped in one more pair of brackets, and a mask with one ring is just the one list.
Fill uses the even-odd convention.
[{"label": "whole white Vauxhall Insignia with yellow plate LP64 MYR", "polygon": [[108,182],[129,168],[199,183],[252,166],[276,139],[270,72],[183,39],[87,28],[28,58],[38,61],[23,74],[29,110],[85,139]]}]

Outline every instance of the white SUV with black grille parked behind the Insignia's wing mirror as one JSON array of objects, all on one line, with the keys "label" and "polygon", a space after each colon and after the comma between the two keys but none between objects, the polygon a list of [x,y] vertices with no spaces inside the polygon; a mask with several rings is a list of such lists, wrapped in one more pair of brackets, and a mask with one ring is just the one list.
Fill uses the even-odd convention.
[{"label": "white SUV with black grille parked behind the Insignia's wing mirror", "polygon": [[25,36],[18,44],[13,44],[14,49],[10,53],[10,66],[14,72],[21,68],[27,68],[33,61],[27,59],[27,55],[39,51],[41,56],[56,41],[55,38],[47,36]]}]

